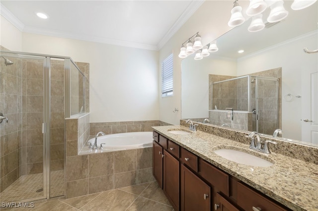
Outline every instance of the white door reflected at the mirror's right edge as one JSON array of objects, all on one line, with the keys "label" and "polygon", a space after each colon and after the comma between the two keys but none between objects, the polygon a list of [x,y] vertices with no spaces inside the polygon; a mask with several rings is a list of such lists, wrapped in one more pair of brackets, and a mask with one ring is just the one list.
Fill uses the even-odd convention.
[{"label": "white door reflected at the mirror's right edge", "polygon": [[318,144],[318,72],[302,75],[302,141]]}]

